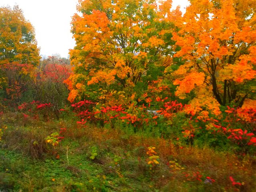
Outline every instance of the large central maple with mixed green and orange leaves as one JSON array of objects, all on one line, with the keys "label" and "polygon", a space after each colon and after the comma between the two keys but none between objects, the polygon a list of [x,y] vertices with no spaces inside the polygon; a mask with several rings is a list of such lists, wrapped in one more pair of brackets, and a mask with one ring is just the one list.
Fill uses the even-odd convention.
[{"label": "large central maple with mixed green and orange leaves", "polygon": [[170,8],[170,0],[160,6],[155,0],[80,0],[72,20],[68,99],[106,101],[117,91],[136,100],[148,92],[172,64]]}]

